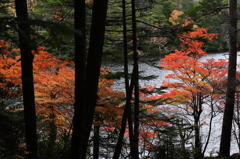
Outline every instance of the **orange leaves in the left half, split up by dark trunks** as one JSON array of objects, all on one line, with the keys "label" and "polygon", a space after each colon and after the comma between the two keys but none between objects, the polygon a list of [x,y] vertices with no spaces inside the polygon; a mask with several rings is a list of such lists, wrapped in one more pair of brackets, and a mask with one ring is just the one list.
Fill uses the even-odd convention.
[{"label": "orange leaves in the left half, split up by dark trunks", "polygon": [[[0,41],[0,89],[4,90],[5,98],[21,97],[21,61],[20,55],[13,57],[13,52],[19,49],[8,50],[8,43]],[[42,122],[54,123],[58,133],[68,131],[71,127],[74,104],[74,64],[68,60],[59,60],[38,47],[34,54],[33,72],[36,99],[36,111],[43,117]],[[106,74],[108,68],[102,68],[101,74]],[[124,97],[124,93],[116,92],[111,88],[113,80],[100,78],[99,100],[97,112],[105,121],[105,125],[119,124],[123,109],[117,107]]]}]

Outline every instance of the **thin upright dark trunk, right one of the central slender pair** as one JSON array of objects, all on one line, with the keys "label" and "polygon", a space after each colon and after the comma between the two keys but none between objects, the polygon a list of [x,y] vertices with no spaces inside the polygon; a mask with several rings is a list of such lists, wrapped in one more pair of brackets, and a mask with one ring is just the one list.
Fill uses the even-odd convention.
[{"label": "thin upright dark trunk, right one of the central slender pair", "polygon": [[138,71],[138,53],[137,53],[137,35],[136,35],[136,10],[135,0],[132,0],[132,32],[133,32],[133,59],[134,59],[134,135],[132,157],[138,159],[138,140],[139,140],[139,71]]}]

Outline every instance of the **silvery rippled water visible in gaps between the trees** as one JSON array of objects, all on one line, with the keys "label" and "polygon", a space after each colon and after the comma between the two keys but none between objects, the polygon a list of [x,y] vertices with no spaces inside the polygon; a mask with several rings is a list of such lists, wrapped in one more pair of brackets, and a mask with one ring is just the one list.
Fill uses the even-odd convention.
[{"label": "silvery rippled water visible in gaps between the trees", "polygon": [[[238,54],[240,54],[240,52],[238,52]],[[152,80],[140,80],[139,84],[140,86],[144,86],[144,85],[151,85],[151,86],[156,86],[156,87],[160,87],[160,85],[162,84],[164,77],[171,73],[168,70],[163,70],[163,69],[159,69],[157,68],[159,66],[160,63],[160,58],[162,57],[141,57],[139,60],[139,70],[141,71],[141,76],[151,76],[151,75],[156,75],[158,76],[155,79]],[[208,54],[207,56],[203,57],[202,59],[228,59],[228,52],[221,52],[221,53],[211,53]],[[152,62],[150,62],[152,61]],[[155,63],[154,65],[152,63]],[[240,56],[238,56],[238,63],[240,62]],[[129,63],[132,63],[132,61],[130,61]],[[150,64],[151,63],[151,64]],[[104,66],[107,66],[111,69],[112,72],[123,72],[123,64],[119,64],[119,63],[111,63],[111,62],[107,62],[104,63]],[[157,66],[157,67],[155,67]],[[129,71],[132,70],[132,65],[129,66]],[[124,79],[121,78],[119,80],[115,80],[113,88],[115,90],[118,91],[124,91]],[[207,110],[205,110],[205,112],[207,112]],[[207,121],[208,119],[208,113],[204,113],[202,114],[204,117],[202,120],[206,121],[206,123],[208,123]],[[211,133],[211,139],[209,142],[209,145],[207,147],[207,151],[205,153],[206,156],[217,156],[217,152],[219,151],[219,144],[220,144],[220,135],[221,135],[221,128],[222,128],[222,114],[218,115],[217,117],[214,118],[213,121],[213,130]],[[202,136],[202,140],[204,141],[204,137],[206,137],[208,132],[208,126],[206,125],[205,127],[203,126],[201,128],[201,136]],[[233,153],[238,153],[238,147],[236,144],[236,141],[233,141],[231,143],[231,154]]]}]

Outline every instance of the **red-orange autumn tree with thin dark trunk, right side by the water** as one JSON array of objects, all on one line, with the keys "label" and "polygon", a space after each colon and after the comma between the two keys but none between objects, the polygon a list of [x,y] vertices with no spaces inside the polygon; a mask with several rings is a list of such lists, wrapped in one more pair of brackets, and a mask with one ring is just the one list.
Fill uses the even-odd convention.
[{"label": "red-orange autumn tree with thin dark trunk, right side by the water", "polygon": [[212,40],[215,36],[202,28],[183,33],[180,35],[181,50],[176,50],[175,53],[161,60],[161,66],[173,72],[166,78],[174,79],[174,81],[169,80],[163,83],[163,86],[169,88],[169,92],[162,94],[162,97],[171,98],[172,104],[184,107],[183,112],[192,116],[195,126],[195,158],[204,155],[200,140],[200,119],[204,103],[207,103],[209,98],[218,100],[217,89],[221,80],[226,76],[227,61],[223,59],[202,61],[201,57],[206,55],[206,52],[202,50],[204,43],[194,39]]}]

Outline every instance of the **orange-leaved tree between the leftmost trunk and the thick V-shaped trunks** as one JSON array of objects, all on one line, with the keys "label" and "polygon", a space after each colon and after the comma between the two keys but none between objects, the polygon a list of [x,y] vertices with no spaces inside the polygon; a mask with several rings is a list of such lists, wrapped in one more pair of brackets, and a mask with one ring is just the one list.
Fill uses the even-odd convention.
[{"label": "orange-leaved tree between the leftmost trunk and the thick V-shaped trunks", "polygon": [[[41,119],[38,129],[44,132],[40,133],[39,156],[53,158],[57,154],[66,155],[68,150],[74,102],[74,69],[71,67],[74,65],[54,58],[44,49],[38,47],[33,51],[36,111]],[[61,153],[59,143],[65,149]]]}]

